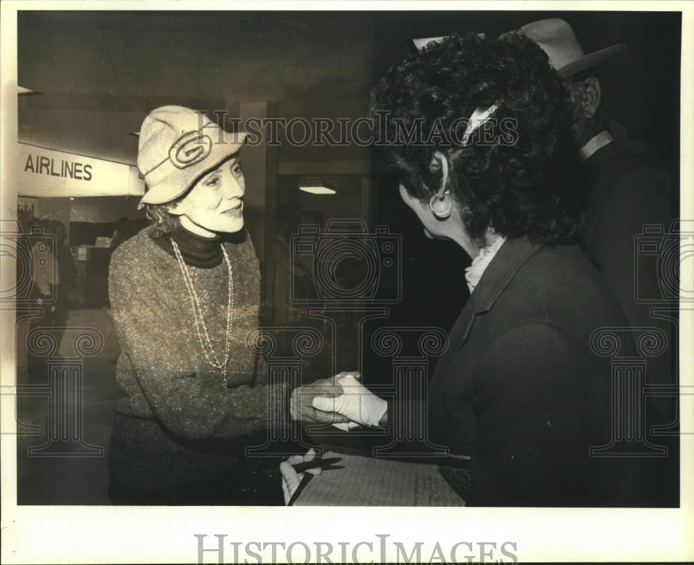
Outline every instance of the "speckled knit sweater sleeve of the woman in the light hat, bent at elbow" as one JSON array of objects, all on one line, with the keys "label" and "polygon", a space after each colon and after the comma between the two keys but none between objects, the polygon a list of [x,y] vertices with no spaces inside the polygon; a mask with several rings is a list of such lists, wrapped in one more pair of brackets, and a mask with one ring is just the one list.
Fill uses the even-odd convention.
[{"label": "speckled knit sweater sleeve of the woman in the light hat, bent at elbow", "polygon": [[[144,286],[143,286],[144,285]],[[125,354],[146,401],[168,431],[188,440],[227,439],[285,421],[286,385],[223,388],[184,370],[177,336],[166,327],[146,283],[114,256],[109,276],[112,315]]]}]

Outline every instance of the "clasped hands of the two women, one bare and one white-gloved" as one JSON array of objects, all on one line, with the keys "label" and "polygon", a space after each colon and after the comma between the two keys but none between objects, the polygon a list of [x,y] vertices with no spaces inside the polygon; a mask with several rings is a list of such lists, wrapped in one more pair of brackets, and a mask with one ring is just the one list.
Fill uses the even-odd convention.
[{"label": "clasped hands of the two women, one bare and one white-gloved", "polygon": [[294,389],[291,417],[309,424],[332,424],[349,431],[387,420],[388,405],[359,382],[355,371],[341,372]]}]

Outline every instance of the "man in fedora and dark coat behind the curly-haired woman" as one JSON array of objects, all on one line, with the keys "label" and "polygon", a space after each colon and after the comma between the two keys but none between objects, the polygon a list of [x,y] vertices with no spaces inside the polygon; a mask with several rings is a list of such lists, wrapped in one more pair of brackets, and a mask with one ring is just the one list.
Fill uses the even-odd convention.
[{"label": "man in fedora and dark coat behind the curly-haired woman", "polygon": [[[672,179],[652,147],[658,140],[628,139],[627,132],[620,130],[602,107],[605,93],[598,73],[626,46],[611,45],[586,54],[568,22],[557,18],[534,21],[521,31],[547,53],[568,92],[573,143],[582,164],[580,182],[585,208],[581,246],[605,277],[629,326],[636,331],[654,327],[666,336],[665,351],[648,358],[648,385],[677,385],[677,340],[672,340],[677,335],[676,313],[661,310],[660,315],[653,315],[654,304],[643,301],[643,297],[666,298],[661,288],[663,272],[656,261],[637,261],[638,237],[645,227],[661,227],[663,234],[670,230]],[[637,292],[642,299],[638,299]],[[641,416],[647,417],[644,428],[677,423],[674,394],[651,395],[645,403],[646,416]],[[668,448],[666,457],[643,461],[651,476],[649,503],[679,503],[676,431],[676,427],[671,428],[670,437],[651,436],[650,432],[647,435],[653,444]]]}]

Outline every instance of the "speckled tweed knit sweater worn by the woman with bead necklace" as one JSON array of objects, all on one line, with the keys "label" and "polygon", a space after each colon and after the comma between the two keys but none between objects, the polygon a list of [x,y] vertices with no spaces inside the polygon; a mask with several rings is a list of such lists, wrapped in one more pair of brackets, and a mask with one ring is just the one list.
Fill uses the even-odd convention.
[{"label": "speckled tweed knit sweater worn by the woman with bead necklace", "polygon": [[[117,381],[126,395],[117,401],[110,450],[110,473],[119,483],[159,489],[232,470],[251,435],[268,425],[268,406],[282,404],[284,385],[255,383],[256,359],[247,345],[260,304],[253,243],[246,236],[224,245],[234,283],[228,388],[203,353],[177,259],[146,230],[112,256],[109,297],[121,345]],[[222,358],[226,261],[212,268],[189,265],[188,271]]]}]

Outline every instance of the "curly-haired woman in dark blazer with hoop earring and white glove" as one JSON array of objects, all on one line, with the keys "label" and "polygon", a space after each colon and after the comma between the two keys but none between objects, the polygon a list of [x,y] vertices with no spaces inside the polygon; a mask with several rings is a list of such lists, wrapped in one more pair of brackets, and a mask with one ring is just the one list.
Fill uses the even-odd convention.
[{"label": "curly-haired woman in dark blazer with hoop earring and white glove", "polygon": [[[428,407],[431,439],[471,458],[469,476],[446,471],[468,505],[620,504],[633,486],[630,463],[590,453],[611,432],[611,367],[591,336],[625,322],[570,243],[578,201],[565,99],[522,33],[430,43],[372,91],[372,112],[390,112],[381,137],[400,196],[428,236],[473,258],[471,297]],[[416,123],[438,141],[398,143]],[[339,382],[350,394],[312,406],[362,425],[388,420],[386,401],[352,377]]]}]

